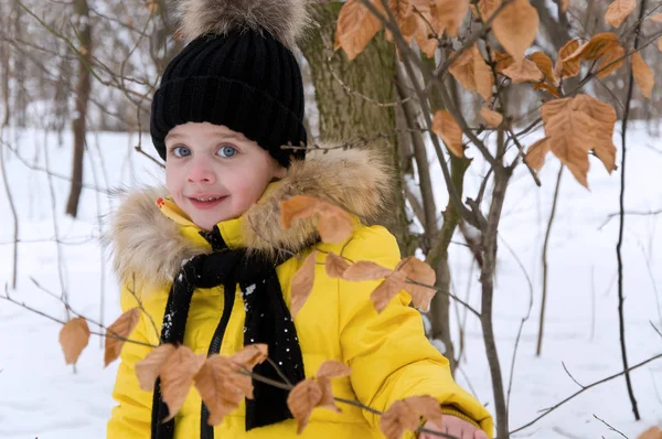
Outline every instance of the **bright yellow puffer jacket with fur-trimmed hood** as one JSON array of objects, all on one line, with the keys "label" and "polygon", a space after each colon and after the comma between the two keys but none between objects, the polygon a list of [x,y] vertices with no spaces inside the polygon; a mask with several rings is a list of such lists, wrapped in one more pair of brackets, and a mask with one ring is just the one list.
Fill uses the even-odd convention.
[{"label": "bright yellow puffer jacket with fur-trimmed hood", "polygon": [[[228,247],[257,251],[295,249],[291,258],[277,267],[286,303],[290,303],[290,282],[302,260],[319,250],[314,286],[310,298],[295,318],[306,376],[313,376],[320,364],[335,360],[348,364],[351,376],[333,381],[337,397],[359,400],[386,410],[397,399],[430,395],[445,413],[472,420],[492,435],[492,418],[483,406],[452,379],[448,361],[425,338],[419,312],[408,307],[405,291],[377,313],[370,300],[380,281],[350,282],[331,279],[324,271],[327,253],[353,260],[372,260],[393,268],[399,260],[395,238],[382,226],[366,226],[388,196],[388,172],[365,151],[350,150],[328,154],[309,153],[296,162],[288,175],[271,183],[260,201],[241,218],[225,221],[218,228]],[[356,218],[353,236],[342,244],[317,244],[301,248],[314,236],[313,221],[299,221],[289,231],[280,229],[278,206],[295,194],[324,196],[352,212]],[[170,281],[181,261],[211,246],[178,206],[156,189],[127,195],[110,223],[109,240],[115,250],[115,268],[122,279],[121,308],[137,306],[131,291],[140,297],[145,310],[130,339],[159,344]],[[196,290],[190,307],[184,344],[196,354],[206,353],[223,310],[223,287]],[[237,289],[221,354],[243,347],[245,311]],[[152,322],[153,320],[153,322]],[[118,405],[108,422],[109,439],[150,437],[152,394],[138,385],[135,365],[150,347],[126,343],[121,352],[114,398]],[[302,438],[382,438],[380,418],[354,406],[340,405],[342,413],[318,408]],[[216,438],[295,438],[296,420],[245,431],[244,403],[215,427]],[[175,417],[177,439],[200,438],[201,398],[192,389]]]}]

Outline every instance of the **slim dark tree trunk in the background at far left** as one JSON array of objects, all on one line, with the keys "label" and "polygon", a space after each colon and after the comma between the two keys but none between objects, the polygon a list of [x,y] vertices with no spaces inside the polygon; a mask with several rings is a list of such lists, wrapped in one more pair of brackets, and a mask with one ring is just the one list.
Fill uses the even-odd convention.
[{"label": "slim dark tree trunk in the background at far left", "polygon": [[90,62],[92,62],[92,30],[89,25],[89,8],[87,0],[76,0],[76,15],[81,20],[78,34],[81,39],[81,56],[78,61],[78,84],[76,85],[76,114],[74,119],[74,161],[72,168],[72,186],[70,197],[66,203],[66,213],[76,216],[78,213],[78,202],[81,200],[81,190],[83,188],[83,157],[85,153],[85,135],[87,132],[87,103],[90,92]]}]

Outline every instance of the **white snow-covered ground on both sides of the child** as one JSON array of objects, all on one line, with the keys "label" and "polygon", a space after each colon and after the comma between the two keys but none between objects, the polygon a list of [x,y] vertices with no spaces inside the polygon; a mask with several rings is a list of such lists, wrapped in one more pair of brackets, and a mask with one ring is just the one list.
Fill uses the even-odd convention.
[{"label": "white snow-covered ground on both sides of the child", "polygon": [[[662,141],[642,126],[629,136],[627,210],[662,208]],[[41,131],[7,132],[28,164],[68,175],[71,137],[60,144],[56,135]],[[617,132],[618,135],[618,132]],[[527,139],[527,143],[531,143]],[[89,186],[156,183],[161,171],[132,151],[137,138],[90,135],[85,162]],[[149,142],[149,137],[143,137]],[[618,143],[620,144],[620,143]],[[620,150],[620,147],[619,147]],[[151,151],[150,151],[151,152]],[[113,201],[90,189],[83,191],[78,220],[63,214],[68,182],[31,170],[4,148],[7,178],[19,216],[19,278],[11,289],[13,218],[4,188],[0,192],[0,283],[9,285],[17,300],[50,315],[65,319],[62,304],[43,291],[66,291],[74,310],[104,322],[119,314],[117,286],[96,238],[98,218]],[[620,164],[620,158],[619,158]],[[433,169],[438,174],[437,169]],[[476,193],[481,165],[468,175],[467,195]],[[591,159],[590,191],[564,172],[557,217],[549,245],[549,286],[543,355],[535,356],[541,298],[541,250],[552,205],[558,162],[549,159],[537,189],[524,168],[516,172],[506,195],[494,303],[494,322],[503,375],[509,383],[520,322],[526,315],[533,283],[533,310],[524,326],[513,374],[510,425],[515,429],[579,389],[563,364],[581,385],[622,371],[618,330],[616,243],[620,171],[607,174]],[[51,184],[50,184],[51,183]],[[0,184],[1,185],[1,184]],[[52,190],[51,190],[52,188]],[[445,191],[438,181],[438,193]],[[440,197],[439,205],[444,205]],[[55,220],[54,220],[55,217]],[[607,224],[605,225],[605,223]],[[630,364],[662,353],[662,215],[630,215],[624,232],[626,325]],[[60,244],[54,242],[57,237]],[[456,237],[461,243],[461,237]],[[513,256],[513,255],[516,255]],[[519,259],[519,260],[517,260]],[[520,266],[522,264],[523,268]],[[479,302],[478,272],[461,245],[451,246],[453,292]],[[41,286],[36,286],[35,282]],[[103,311],[102,311],[103,310]],[[465,321],[459,308],[459,319]],[[457,330],[457,318],[453,318]],[[64,365],[57,343],[60,324],[6,301],[0,301],[0,439],[103,438],[113,400],[117,363],[103,366],[97,338],[78,361],[76,371]],[[458,381],[493,408],[491,379],[480,325],[466,318],[466,356]],[[634,394],[643,420],[636,422],[623,378],[585,392],[515,437],[620,438],[608,422],[636,438],[647,427],[662,425],[662,360],[632,373]],[[596,417],[594,417],[594,415]]]}]

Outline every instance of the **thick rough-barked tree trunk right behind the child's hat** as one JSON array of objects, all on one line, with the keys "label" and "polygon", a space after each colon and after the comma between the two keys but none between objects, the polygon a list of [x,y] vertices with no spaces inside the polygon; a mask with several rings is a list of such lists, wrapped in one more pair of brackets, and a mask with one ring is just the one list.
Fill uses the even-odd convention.
[{"label": "thick rough-barked tree trunk right behind the child's hat", "polygon": [[[331,55],[331,67],[352,90],[369,96],[378,103],[397,100],[394,94],[395,51],[393,44],[377,35],[365,51],[349,62],[344,52],[335,55],[332,46],[335,35],[335,22],[343,3],[331,2],[316,4],[313,18],[318,21],[319,34],[309,38],[302,45],[303,55],[310,65],[319,110],[320,137],[325,139],[372,138],[378,133],[392,133],[395,129],[393,107],[378,106],[350,93],[333,77],[328,64]],[[378,72],[367,75],[366,72]],[[403,255],[410,255],[415,249],[410,236],[405,210],[405,196],[399,174],[397,138],[389,136],[371,142],[371,148],[383,151],[388,157],[396,174],[397,191],[393,217],[385,224],[395,235]]]}]

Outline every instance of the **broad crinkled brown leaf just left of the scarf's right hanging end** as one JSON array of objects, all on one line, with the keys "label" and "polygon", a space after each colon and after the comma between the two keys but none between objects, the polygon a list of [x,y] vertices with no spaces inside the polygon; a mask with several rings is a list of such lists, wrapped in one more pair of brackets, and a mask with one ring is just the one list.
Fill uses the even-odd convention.
[{"label": "broad crinkled brown leaf just left of the scarf's right hanging end", "polygon": [[237,371],[231,358],[214,354],[195,374],[195,388],[210,410],[210,426],[220,425],[226,415],[239,407],[244,397],[253,398],[250,377]]}]

